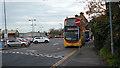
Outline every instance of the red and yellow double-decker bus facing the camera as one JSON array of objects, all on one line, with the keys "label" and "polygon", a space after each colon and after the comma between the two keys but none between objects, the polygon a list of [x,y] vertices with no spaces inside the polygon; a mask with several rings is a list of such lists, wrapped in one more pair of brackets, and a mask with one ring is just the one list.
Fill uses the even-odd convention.
[{"label": "red and yellow double-decker bus facing the camera", "polygon": [[[66,18],[64,21],[64,46],[82,46],[85,43],[85,32],[79,26],[80,31],[78,35],[78,26],[75,24],[77,17]],[[79,36],[79,37],[78,37]],[[79,45],[80,42],[80,45]]]}]

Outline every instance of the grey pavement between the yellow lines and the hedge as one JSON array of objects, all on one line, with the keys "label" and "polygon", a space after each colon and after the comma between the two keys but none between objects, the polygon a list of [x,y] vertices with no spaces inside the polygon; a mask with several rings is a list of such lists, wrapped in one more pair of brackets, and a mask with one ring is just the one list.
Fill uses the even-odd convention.
[{"label": "grey pavement between the yellow lines and the hedge", "polygon": [[105,66],[103,58],[98,55],[93,41],[86,44],[75,54],[64,61],[60,66]]}]

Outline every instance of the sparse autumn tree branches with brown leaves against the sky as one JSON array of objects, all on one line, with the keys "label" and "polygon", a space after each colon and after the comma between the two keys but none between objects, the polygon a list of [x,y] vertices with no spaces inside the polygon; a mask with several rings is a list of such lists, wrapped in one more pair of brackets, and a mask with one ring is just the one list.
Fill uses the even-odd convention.
[{"label": "sparse autumn tree branches with brown leaves against the sky", "polygon": [[89,15],[89,18],[94,18],[96,16],[100,16],[102,14],[105,14],[106,10],[106,0],[91,0],[88,1],[88,4],[86,7],[88,8],[88,11],[86,11],[86,14]]}]

